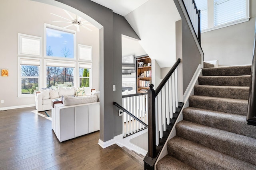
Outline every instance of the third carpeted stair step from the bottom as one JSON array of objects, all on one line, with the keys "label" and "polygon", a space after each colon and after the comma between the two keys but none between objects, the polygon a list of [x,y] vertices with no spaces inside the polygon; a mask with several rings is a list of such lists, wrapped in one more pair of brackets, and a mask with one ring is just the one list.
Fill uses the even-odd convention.
[{"label": "third carpeted stair step from the bottom", "polygon": [[189,121],[177,123],[176,134],[178,137],[256,165],[256,139],[254,138]]}]

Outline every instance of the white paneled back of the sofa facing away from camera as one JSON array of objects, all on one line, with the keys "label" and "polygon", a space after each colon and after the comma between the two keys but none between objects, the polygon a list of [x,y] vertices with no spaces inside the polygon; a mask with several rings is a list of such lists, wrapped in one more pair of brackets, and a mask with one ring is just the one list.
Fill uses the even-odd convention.
[{"label": "white paneled back of the sofa facing away from camera", "polygon": [[100,130],[100,103],[55,104],[52,129],[60,142]]}]

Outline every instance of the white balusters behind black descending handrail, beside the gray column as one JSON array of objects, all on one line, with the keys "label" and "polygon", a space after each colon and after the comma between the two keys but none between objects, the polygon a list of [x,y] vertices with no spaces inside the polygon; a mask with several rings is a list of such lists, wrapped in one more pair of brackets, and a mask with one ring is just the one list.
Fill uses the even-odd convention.
[{"label": "white balusters behind black descending handrail, beside the gray column", "polygon": [[[122,106],[130,113],[138,117],[144,123],[148,123],[148,94],[138,96],[123,96]],[[123,112],[123,135],[127,137],[130,134],[136,133],[145,129],[145,126],[136,121],[126,112]]]}]

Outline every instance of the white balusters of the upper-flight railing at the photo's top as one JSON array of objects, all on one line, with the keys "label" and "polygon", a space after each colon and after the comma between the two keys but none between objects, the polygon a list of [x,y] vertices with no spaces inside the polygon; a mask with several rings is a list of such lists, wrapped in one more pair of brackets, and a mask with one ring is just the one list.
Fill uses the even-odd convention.
[{"label": "white balusters of the upper-flight railing at the photo's top", "polygon": [[190,18],[190,22],[193,25],[194,31],[198,38],[199,43],[201,44],[201,13],[200,10],[196,7],[195,0],[182,0],[186,11]]}]

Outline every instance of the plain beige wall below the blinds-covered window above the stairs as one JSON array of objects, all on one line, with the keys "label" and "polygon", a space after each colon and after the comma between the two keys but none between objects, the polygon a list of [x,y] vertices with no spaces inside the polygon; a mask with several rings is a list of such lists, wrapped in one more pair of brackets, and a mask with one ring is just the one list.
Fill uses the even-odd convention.
[{"label": "plain beige wall below the blinds-covered window above the stairs", "polygon": [[219,66],[252,64],[256,1],[250,0],[250,20],[202,33],[204,61],[218,60]]}]

